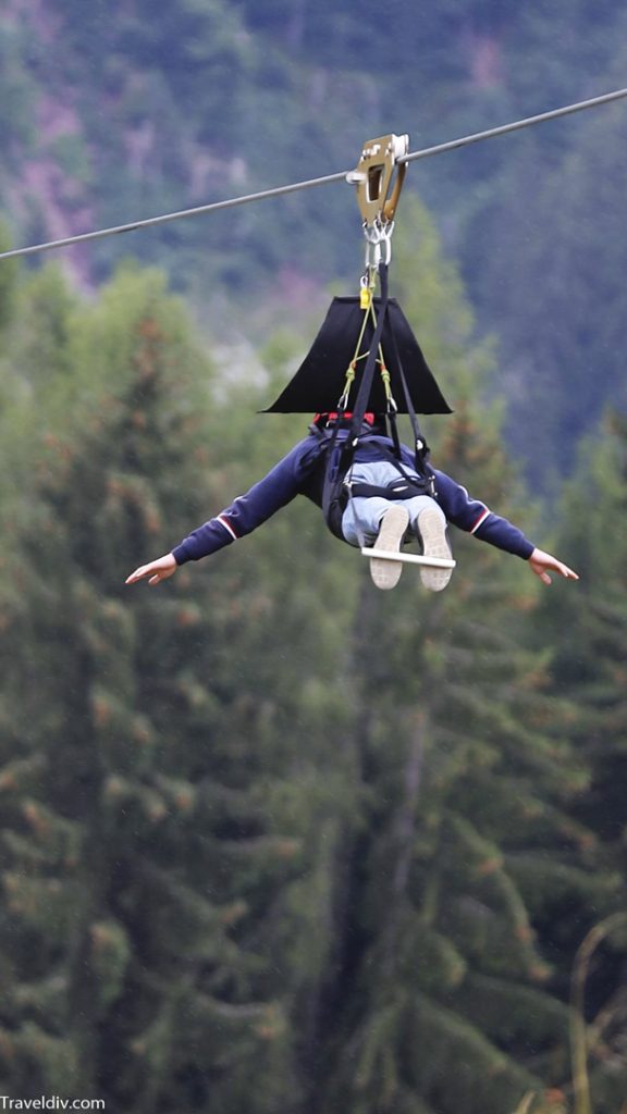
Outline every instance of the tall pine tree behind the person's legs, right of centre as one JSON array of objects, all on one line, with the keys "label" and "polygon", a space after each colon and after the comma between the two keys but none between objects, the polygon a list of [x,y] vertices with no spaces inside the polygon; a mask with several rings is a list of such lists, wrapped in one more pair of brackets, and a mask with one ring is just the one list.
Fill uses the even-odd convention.
[{"label": "tall pine tree behind the person's legs, right of centre", "polygon": [[[523,520],[498,416],[479,405],[488,350],[426,215],[416,208],[414,222],[414,302],[444,342],[436,328],[418,339],[434,368],[446,354],[456,408],[434,462]],[[327,1083],[311,1108],[324,1114],[502,1114],[568,1074],[568,1007],[536,924],[556,891],[606,882],[594,838],[567,811],[586,781],[572,707],[544,691],[546,655],[524,645],[538,606],[529,570],[474,539],[453,544],[443,596],[425,598],[406,570],[392,599],[361,600],[365,812],[321,1026]]]}]

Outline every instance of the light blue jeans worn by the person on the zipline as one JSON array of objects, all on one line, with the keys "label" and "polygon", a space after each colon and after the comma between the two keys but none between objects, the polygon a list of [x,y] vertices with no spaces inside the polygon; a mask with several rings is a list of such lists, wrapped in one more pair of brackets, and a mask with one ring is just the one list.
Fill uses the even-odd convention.
[{"label": "light blue jeans worn by the person on the zipline", "polygon": [[[417,479],[416,473],[405,468],[407,476]],[[388,487],[399,478],[398,470],[390,461],[374,460],[355,463],[350,469],[350,480],[354,483],[372,483],[374,487]],[[446,525],[444,511],[428,495],[416,495],[413,499],[384,499],[380,496],[357,496],[348,500],[341,517],[341,532],[351,546],[372,546],[379,532],[380,521],[386,510],[393,504],[405,507],[409,515],[409,531],[416,536],[418,515],[425,507],[433,507]]]}]

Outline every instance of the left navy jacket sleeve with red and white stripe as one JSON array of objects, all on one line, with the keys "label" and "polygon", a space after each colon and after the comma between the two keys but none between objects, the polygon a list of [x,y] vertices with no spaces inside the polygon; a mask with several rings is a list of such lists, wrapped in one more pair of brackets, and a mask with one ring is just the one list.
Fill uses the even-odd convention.
[{"label": "left navy jacket sleeve with red and white stripe", "polygon": [[300,441],[245,495],[215,518],[209,519],[172,550],[177,565],[218,553],[238,538],[251,534],[300,492],[302,481],[317,461],[317,444]]}]

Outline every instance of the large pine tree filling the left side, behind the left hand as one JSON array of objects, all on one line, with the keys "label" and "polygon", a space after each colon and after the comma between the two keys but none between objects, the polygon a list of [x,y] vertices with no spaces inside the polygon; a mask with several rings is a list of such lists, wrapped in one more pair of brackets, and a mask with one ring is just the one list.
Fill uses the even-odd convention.
[{"label": "large pine tree filling the left side, behind the left hand", "polygon": [[20,1095],[261,1114],[298,1104],[289,1020],[316,1009],[330,947],[350,791],[343,761],[321,775],[318,713],[346,715],[347,604],[330,569],[332,619],[297,597],[331,539],[277,567],[288,524],[254,556],[124,589],[223,506],[249,448],[257,463],[250,424],[208,414],[189,332],[158,277],[123,273],[76,315],[49,387],[2,606],[0,1057]]}]

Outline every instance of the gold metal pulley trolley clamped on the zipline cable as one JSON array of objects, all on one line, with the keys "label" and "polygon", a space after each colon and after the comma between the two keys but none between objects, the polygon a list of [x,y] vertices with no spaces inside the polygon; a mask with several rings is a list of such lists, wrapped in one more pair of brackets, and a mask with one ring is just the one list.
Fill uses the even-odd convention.
[{"label": "gold metal pulley trolley clamped on the zipline cable", "polygon": [[[405,179],[406,164],[398,159],[407,154],[409,136],[380,136],[369,139],[357,169],[347,180],[357,186],[357,203],[367,225],[394,221],[398,197]],[[396,176],[395,176],[396,170]]]}]

